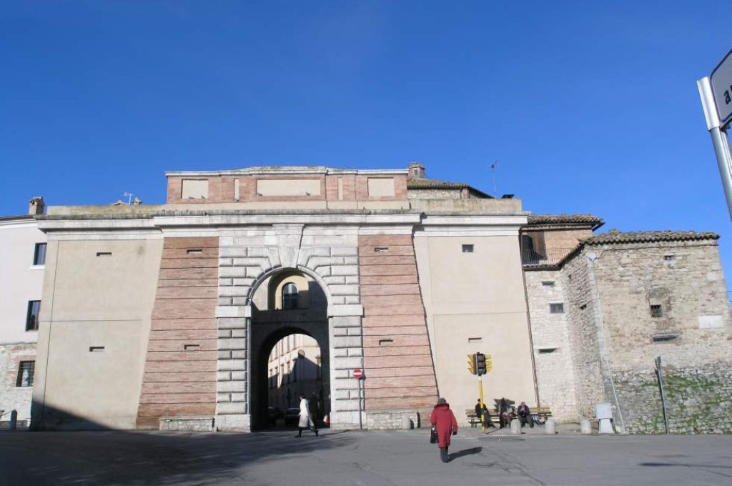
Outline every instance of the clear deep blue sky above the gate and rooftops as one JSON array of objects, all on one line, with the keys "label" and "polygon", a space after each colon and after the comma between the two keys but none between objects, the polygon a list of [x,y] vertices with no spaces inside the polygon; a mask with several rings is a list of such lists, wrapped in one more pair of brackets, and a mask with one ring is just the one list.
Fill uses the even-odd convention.
[{"label": "clear deep blue sky above the gate and rooftops", "polygon": [[164,171],[406,168],[602,231],[730,217],[695,81],[732,2],[2,1],[0,214]]}]

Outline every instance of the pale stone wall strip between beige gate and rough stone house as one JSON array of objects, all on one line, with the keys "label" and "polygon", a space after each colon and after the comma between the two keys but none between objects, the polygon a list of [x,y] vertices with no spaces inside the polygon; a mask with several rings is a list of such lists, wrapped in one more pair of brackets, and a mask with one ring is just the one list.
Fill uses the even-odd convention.
[{"label": "pale stone wall strip between beige gate and rough stone house", "polygon": [[[550,304],[562,303],[567,307],[562,279],[558,270],[525,272],[525,279],[539,404],[550,407],[559,422],[576,421],[578,410],[567,314],[550,313]],[[550,351],[552,348],[554,351]]]}]

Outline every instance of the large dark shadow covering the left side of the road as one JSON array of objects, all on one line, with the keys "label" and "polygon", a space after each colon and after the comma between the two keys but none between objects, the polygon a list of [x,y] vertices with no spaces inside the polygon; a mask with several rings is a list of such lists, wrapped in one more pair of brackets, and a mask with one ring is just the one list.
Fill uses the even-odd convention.
[{"label": "large dark shadow covering the left side of the road", "polygon": [[1,484],[215,484],[245,479],[252,463],[348,446],[343,431],[294,438],[296,430],[260,433],[94,432],[0,433]]}]

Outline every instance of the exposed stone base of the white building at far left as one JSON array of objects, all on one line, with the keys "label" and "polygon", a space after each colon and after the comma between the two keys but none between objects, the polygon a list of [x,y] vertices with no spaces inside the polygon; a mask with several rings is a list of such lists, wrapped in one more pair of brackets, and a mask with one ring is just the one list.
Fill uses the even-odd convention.
[{"label": "exposed stone base of the white building at far left", "polygon": [[18,366],[21,361],[35,361],[35,343],[0,345],[0,410],[4,410],[0,422],[10,420],[10,412],[18,412],[18,420],[30,420],[32,386],[15,386],[18,382]]}]

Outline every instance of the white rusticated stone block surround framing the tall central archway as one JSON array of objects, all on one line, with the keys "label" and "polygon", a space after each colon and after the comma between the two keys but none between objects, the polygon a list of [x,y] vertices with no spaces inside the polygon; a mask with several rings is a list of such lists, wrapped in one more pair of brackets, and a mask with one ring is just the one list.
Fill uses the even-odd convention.
[{"label": "white rusticated stone block surround framing the tall central archway", "polygon": [[[325,287],[330,313],[332,426],[357,424],[358,384],[350,375],[354,368],[363,367],[357,228],[274,224],[222,230],[220,234],[219,328],[241,337],[219,345],[217,427],[227,423],[248,427],[247,306],[255,282],[277,269],[300,269]],[[235,394],[226,395],[234,390]]]}]

